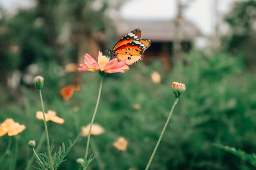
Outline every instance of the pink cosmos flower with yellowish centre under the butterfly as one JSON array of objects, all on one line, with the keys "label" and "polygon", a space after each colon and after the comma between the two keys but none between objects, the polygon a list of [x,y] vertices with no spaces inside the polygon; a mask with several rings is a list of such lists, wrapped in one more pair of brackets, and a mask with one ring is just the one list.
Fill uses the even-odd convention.
[{"label": "pink cosmos flower with yellowish centre under the butterfly", "polygon": [[99,52],[98,61],[93,59],[88,53],[84,55],[84,63],[80,64],[81,68],[78,71],[102,71],[105,73],[124,73],[129,70],[129,67],[125,64],[126,61],[118,62],[118,59],[110,60],[105,55]]}]

